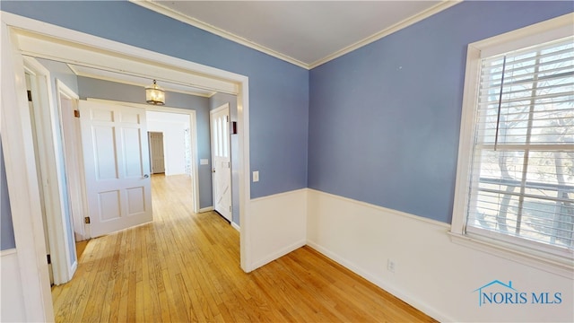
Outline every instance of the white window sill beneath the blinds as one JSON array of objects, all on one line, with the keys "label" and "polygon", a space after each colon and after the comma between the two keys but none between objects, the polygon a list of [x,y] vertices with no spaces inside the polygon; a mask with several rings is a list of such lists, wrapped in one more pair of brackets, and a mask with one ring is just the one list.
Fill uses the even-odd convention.
[{"label": "white window sill beneath the blinds", "polygon": [[574,260],[572,259],[548,255],[532,249],[521,249],[516,245],[499,240],[486,240],[479,236],[462,235],[451,231],[448,232],[448,235],[450,240],[458,245],[535,267],[554,275],[561,275],[570,279],[574,277]]}]

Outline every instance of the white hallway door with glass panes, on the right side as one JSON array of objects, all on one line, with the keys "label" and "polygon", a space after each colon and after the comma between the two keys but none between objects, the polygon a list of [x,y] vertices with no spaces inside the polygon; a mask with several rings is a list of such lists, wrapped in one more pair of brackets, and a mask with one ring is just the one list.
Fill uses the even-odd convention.
[{"label": "white hallway door with glass panes, on the right side", "polygon": [[230,107],[210,112],[212,128],[213,209],[231,221]]}]

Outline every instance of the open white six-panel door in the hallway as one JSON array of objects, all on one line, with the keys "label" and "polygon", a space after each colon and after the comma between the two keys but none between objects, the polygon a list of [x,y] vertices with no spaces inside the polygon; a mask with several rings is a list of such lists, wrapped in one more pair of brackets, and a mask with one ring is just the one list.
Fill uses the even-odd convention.
[{"label": "open white six-panel door in the hallway", "polygon": [[145,109],[81,100],[91,237],[152,221]]}]

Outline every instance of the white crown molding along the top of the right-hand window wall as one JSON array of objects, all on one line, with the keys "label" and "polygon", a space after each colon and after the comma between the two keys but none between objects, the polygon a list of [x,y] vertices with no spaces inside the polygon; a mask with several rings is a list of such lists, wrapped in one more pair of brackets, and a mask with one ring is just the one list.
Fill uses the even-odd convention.
[{"label": "white crown molding along the top of the right-hand window wall", "polygon": [[370,43],[377,41],[378,39],[382,39],[396,31],[400,31],[416,22],[420,22],[423,19],[429,18],[431,17],[431,15],[436,14],[436,13],[440,13],[441,11],[450,8],[451,6],[455,5],[455,4],[459,4],[461,3],[463,0],[443,0],[442,2],[440,2],[439,4],[435,4],[433,6],[431,6],[431,8],[422,11],[421,13],[417,13],[409,18],[404,19],[401,22],[396,22],[396,24],[382,30],[382,31],[378,31],[372,35],[370,35],[369,37],[367,37],[366,39],[362,39],[357,41],[356,43],[347,46],[346,48],[342,48],[337,50],[335,53],[323,57],[311,64],[309,64],[309,69],[313,69],[315,67],[317,67],[318,65],[323,65],[326,62],[329,62],[337,57],[342,57],[347,53],[352,52],[353,50],[357,49],[357,48],[361,48],[363,46],[369,45]]}]

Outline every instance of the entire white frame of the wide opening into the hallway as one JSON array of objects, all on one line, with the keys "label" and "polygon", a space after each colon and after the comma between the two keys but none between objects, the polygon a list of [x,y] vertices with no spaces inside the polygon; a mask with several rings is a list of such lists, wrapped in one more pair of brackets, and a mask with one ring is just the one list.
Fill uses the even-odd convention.
[{"label": "entire white frame of the wide opening into the hallway", "polygon": [[[6,179],[13,214],[16,253],[26,320],[54,319],[39,206],[38,174],[31,140],[30,113],[23,80],[22,53],[130,74],[159,75],[176,83],[237,94],[239,127],[240,265],[254,268],[250,245],[248,77],[72,31],[13,13],[1,12],[2,131]],[[103,56],[102,54],[108,54]],[[109,58],[113,59],[109,59]],[[20,295],[15,295],[17,297]]]}]

